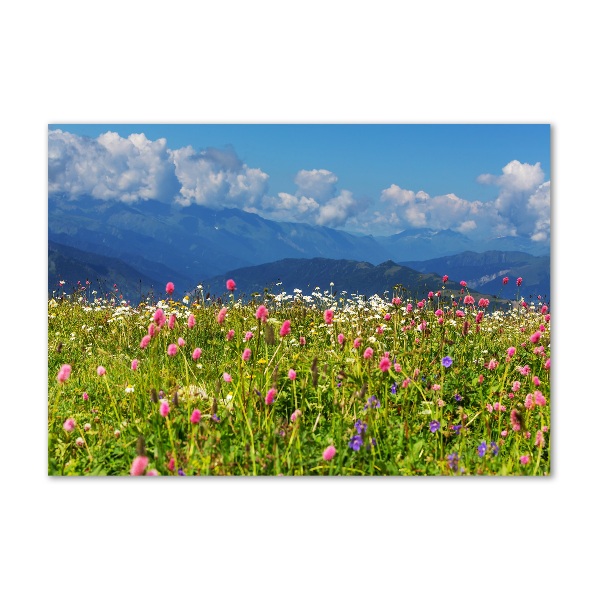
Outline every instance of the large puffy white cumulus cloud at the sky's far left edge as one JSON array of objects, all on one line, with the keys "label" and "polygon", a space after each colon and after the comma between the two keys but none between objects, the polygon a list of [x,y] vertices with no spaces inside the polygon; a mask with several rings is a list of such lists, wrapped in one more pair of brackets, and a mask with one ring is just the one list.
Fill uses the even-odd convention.
[{"label": "large puffy white cumulus cloud at the sky's far left edge", "polygon": [[123,202],[166,200],[178,189],[168,152],[165,139],[150,141],[143,133],[122,138],[108,131],[92,139],[52,130],[48,192]]}]

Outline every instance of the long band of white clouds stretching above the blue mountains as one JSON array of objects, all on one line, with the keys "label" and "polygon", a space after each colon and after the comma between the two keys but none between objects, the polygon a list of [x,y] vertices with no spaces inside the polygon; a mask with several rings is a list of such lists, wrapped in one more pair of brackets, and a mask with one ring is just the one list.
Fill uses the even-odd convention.
[{"label": "long band of white clouds stretching above the blue mountains", "polygon": [[[365,168],[368,168],[365,165]],[[501,174],[477,181],[498,188],[492,201],[430,196],[396,183],[379,198],[357,198],[338,189],[326,169],[300,170],[295,190],[269,191],[269,175],[245,164],[231,147],[169,149],[164,138],[143,133],[127,138],[106,132],[95,139],[60,130],[48,132],[48,192],[72,200],[158,200],[180,206],[239,208],[276,221],[303,222],[389,235],[409,228],[452,229],[473,239],[527,236],[550,239],[550,182],[540,163],[513,160]]]}]

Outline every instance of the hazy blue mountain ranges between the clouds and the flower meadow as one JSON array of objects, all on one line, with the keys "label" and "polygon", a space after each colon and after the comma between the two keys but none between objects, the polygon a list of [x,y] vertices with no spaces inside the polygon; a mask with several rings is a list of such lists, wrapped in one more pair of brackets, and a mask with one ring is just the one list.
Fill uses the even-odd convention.
[{"label": "hazy blue mountain ranges between the clouds and the flower meadow", "polygon": [[[243,283],[248,289],[258,286],[262,290],[268,279],[283,280],[286,275],[290,279],[292,271],[308,269],[307,274],[313,274],[308,279],[323,273],[324,281],[314,281],[314,285],[324,288],[335,281],[342,289],[347,281],[346,291],[365,295],[375,293],[371,292],[375,288],[379,292],[383,284],[385,289],[404,284],[401,279],[417,281],[414,274],[425,285],[423,274],[428,273],[465,279],[472,289],[491,295],[503,293],[502,277],[514,281],[520,276],[523,296],[550,294],[549,245],[525,237],[474,243],[461,233],[432,229],[411,229],[387,237],[358,236],[328,227],[269,221],[235,208],[91,197],[72,201],[52,195],[48,199],[48,240],[49,291],[56,289],[59,279],[71,278],[72,283],[104,278],[111,285],[114,279],[120,287],[129,286],[132,295],[136,290],[139,295],[145,287],[156,287],[162,293],[166,281],[175,282],[182,292],[200,282],[216,289],[229,273],[236,273],[238,286]],[[314,258],[340,262],[305,261],[301,266],[285,260]],[[252,268],[268,263],[276,264]],[[79,270],[81,275],[76,275]],[[296,281],[302,280],[296,276]]]}]

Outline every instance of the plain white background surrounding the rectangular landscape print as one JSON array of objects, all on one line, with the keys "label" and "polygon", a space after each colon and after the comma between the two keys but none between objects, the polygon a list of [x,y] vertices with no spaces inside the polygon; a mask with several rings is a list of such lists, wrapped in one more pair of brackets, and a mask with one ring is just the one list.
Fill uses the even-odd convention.
[{"label": "plain white background surrounding the rectangular landscape print", "polygon": [[[39,4],[0,19],[3,597],[597,594],[591,3]],[[550,123],[552,476],[47,477],[56,122]]]}]

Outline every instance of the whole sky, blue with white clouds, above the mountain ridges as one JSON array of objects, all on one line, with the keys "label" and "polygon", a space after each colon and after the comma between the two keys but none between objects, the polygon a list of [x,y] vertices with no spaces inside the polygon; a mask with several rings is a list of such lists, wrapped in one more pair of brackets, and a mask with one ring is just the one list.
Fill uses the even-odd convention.
[{"label": "whole sky, blue with white clouds, above the mountain ridges", "polygon": [[[126,201],[156,197],[235,206],[274,220],[359,233],[433,227],[475,238],[549,239],[549,125],[53,124],[49,129],[73,134],[55,131],[49,142],[49,188],[73,197],[95,190],[92,195],[118,199],[122,190]],[[118,137],[108,140],[109,131]],[[161,147],[146,144],[144,151],[137,143],[130,152],[125,146],[132,134],[165,141]],[[187,147],[191,150],[182,151]],[[156,165],[144,162],[150,155],[155,163],[170,162],[175,178],[160,171],[161,182],[149,183],[157,172]],[[81,174],[77,182],[65,178],[67,172],[89,171],[93,161],[104,165],[105,177],[127,172],[110,190]],[[145,191],[135,185],[145,185]]]}]

